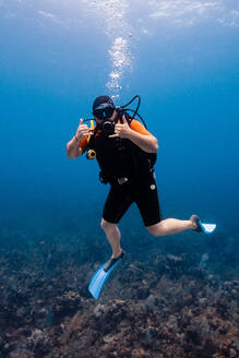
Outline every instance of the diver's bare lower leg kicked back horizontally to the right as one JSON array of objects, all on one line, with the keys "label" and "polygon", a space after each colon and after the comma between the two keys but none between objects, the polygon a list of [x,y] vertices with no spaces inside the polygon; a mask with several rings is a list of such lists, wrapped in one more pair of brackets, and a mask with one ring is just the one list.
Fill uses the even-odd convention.
[{"label": "diver's bare lower leg kicked back horizontally to the right", "polygon": [[154,236],[166,236],[184,230],[196,229],[195,223],[191,220],[179,220],[177,218],[166,218],[155,225],[147,226],[147,230]]}]

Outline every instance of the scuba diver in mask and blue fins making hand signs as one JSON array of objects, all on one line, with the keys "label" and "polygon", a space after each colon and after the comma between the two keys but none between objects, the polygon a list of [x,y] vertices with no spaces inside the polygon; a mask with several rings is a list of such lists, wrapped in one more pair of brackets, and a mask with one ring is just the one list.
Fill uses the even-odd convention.
[{"label": "scuba diver in mask and blue fins making hand signs", "polygon": [[[136,109],[127,108],[134,99],[139,102]],[[76,133],[67,144],[69,158],[84,153],[88,159],[96,157],[100,181],[110,184],[100,225],[112,255],[89,284],[89,291],[96,299],[108,275],[126,254],[120,246],[118,224],[132,203],[138,205],[147,231],[157,237],[183,230],[211,234],[216,227],[203,224],[198,215],[186,220],[163,219],[154,172],[158,141],[138,112],[140,102],[140,96],[135,96],[127,105],[116,107],[109,96],[97,97],[93,103],[94,120],[81,119]],[[136,116],[143,124],[135,119]]]}]

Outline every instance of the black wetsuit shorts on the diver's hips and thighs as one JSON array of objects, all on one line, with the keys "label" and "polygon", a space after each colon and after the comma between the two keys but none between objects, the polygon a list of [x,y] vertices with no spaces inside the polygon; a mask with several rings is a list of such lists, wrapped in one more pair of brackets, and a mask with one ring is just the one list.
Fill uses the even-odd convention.
[{"label": "black wetsuit shorts on the diver's hips and thighs", "polygon": [[118,224],[132,203],[138,205],[145,226],[155,225],[163,219],[157,186],[153,177],[147,182],[111,184],[103,218],[108,223]]}]

